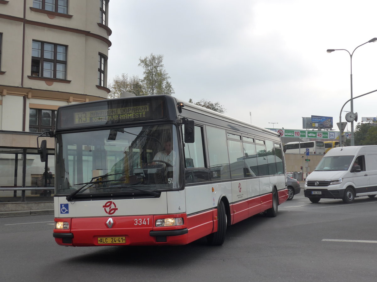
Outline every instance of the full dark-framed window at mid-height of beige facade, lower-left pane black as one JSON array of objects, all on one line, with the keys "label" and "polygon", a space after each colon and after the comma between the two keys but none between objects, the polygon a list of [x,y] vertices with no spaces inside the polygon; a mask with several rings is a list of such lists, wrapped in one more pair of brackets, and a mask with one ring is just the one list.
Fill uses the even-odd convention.
[{"label": "full dark-framed window at mid-height of beige facade, lower-left pane black", "polygon": [[67,46],[33,40],[31,53],[32,76],[66,79]]}]

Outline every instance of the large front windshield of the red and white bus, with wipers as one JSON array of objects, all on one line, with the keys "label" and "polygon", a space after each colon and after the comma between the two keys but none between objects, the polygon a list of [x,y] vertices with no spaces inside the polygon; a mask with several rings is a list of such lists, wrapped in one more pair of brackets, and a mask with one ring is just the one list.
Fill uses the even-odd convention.
[{"label": "large front windshield of the red and white bus, with wipers", "polygon": [[153,195],[181,186],[172,124],[63,133],[56,140],[56,194]]}]

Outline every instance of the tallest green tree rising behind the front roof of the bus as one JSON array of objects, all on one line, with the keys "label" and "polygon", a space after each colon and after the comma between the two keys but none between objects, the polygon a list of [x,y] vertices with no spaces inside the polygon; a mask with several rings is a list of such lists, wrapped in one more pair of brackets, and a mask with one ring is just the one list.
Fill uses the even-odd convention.
[{"label": "tallest green tree rising behind the front roof of the bus", "polygon": [[169,82],[170,76],[164,68],[162,63],[163,55],[154,55],[145,58],[139,58],[139,66],[144,69],[144,77],[141,80],[144,93],[153,94],[168,94],[174,92],[172,84]]}]

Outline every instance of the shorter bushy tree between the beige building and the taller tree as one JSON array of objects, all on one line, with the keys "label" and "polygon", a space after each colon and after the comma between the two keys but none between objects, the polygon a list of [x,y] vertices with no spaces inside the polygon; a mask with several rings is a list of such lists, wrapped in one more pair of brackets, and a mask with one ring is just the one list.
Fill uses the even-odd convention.
[{"label": "shorter bushy tree between the beige building and the taller tree", "polygon": [[129,77],[128,74],[122,73],[121,76],[116,75],[112,83],[109,83],[110,93],[107,95],[109,99],[119,98],[123,91],[130,92],[136,96],[143,93],[143,86],[138,76]]}]

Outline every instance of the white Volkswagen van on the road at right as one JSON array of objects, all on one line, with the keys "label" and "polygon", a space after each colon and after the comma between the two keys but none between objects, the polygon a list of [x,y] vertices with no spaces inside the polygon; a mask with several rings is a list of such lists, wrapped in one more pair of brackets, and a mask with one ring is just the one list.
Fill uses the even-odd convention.
[{"label": "white Volkswagen van on the road at right", "polygon": [[321,198],[343,199],[377,194],[377,146],[337,147],[329,150],[308,175],[304,196],[312,203]]}]

